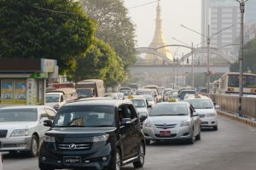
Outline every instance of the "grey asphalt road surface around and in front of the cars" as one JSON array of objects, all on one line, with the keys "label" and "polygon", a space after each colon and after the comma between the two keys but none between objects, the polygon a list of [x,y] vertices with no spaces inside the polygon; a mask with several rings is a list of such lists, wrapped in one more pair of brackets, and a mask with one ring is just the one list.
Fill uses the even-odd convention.
[{"label": "grey asphalt road surface around and in front of the cars", "polygon": [[[218,131],[204,130],[195,144],[151,143],[141,170],[253,170],[256,129],[218,116]],[[4,170],[38,170],[38,158],[4,155]],[[132,165],[122,168],[131,170]]]}]

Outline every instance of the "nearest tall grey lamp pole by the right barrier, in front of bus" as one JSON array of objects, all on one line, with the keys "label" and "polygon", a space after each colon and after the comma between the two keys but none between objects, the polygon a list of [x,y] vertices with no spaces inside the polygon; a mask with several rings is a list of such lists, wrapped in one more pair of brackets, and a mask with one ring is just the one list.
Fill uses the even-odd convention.
[{"label": "nearest tall grey lamp pole by the right barrier, in front of bus", "polygon": [[241,116],[241,98],[243,94],[243,84],[242,84],[242,77],[243,77],[243,17],[245,11],[245,3],[248,1],[238,1],[240,4],[240,12],[241,12],[241,31],[240,31],[240,51],[239,51],[239,106],[238,106],[238,114]]}]

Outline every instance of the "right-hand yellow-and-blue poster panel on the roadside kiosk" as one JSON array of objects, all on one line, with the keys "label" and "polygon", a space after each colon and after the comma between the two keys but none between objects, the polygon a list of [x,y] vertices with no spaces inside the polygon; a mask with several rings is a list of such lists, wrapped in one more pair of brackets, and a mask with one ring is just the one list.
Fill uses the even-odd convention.
[{"label": "right-hand yellow-and-blue poster panel on the roadside kiosk", "polygon": [[15,81],[15,104],[26,104],[26,81]]}]

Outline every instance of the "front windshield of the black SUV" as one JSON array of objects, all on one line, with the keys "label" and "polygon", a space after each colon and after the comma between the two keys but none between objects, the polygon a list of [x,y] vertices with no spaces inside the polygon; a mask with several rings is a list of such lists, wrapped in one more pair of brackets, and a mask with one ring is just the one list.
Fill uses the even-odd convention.
[{"label": "front windshield of the black SUV", "polygon": [[54,127],[113,127],[114,124],[114,108],[108,105],[61,107],[54,121]]}]

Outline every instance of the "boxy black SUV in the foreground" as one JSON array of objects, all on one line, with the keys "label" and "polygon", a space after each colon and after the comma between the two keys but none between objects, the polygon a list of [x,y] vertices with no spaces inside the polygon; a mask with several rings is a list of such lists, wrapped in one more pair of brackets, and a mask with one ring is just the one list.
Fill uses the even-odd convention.
[{"label": "boxy black SUV in the foreground", "polygon": [[41,170],[143,167],[145,141],[129,100],[89,99],[61,107],[40,146]]}]

